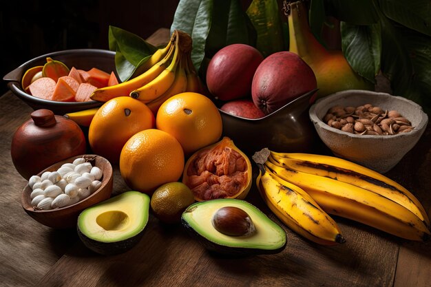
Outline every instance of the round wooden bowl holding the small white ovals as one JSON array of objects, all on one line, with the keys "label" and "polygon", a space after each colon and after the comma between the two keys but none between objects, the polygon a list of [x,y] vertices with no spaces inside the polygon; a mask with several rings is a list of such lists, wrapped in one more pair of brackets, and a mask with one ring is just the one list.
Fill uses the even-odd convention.
[{"label": "round wooden bowl holding the small white ovals", "polygon": [[109,161],[101,156],[97,155],[81,155],[74,156],[72,158],[67,158],[66,160],[62,160],[61,162],[57,162],[52,166],[41,171],[38,176],[41,176],[45,171],[56,171],[61,167],[61,165],[67,162],[73,162],[76,158],[82,158],[83,156],[94,157],[94,162],[92,162],[93,166],[100,168],[103,171],[103,178],[101,180],[101,187],[94,191],[91,195],[83,200],[76,202],[70,206],[61,207],[58,209],[50,209],[50,210],[39,210],[34,209],[31,204],[30,193],[32,193],[32,189],[27,184],[23,189],[23,193],[21,196],[21,204],[23,209],[28,215],[30,215],[37,222],[50,226],[52,228],[72,228],[76,226],[76,221],[78,220],[78,215],[87,207],[90,207],[98,202],[103,200],[107,200],[111,197],[112,194],[112,166]]}]

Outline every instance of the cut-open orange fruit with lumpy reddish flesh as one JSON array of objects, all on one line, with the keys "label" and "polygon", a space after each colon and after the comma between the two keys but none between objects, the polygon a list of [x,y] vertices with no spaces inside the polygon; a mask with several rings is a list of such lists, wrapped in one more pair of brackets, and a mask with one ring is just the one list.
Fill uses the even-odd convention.
[{"label": "cut-open orange fruit with lumpy reddish flesh", "polygon": [[249,158],[227,137],[193,153],[182,174],[182,182],[193,191],[196,201],[244,199],[251,178]]}]

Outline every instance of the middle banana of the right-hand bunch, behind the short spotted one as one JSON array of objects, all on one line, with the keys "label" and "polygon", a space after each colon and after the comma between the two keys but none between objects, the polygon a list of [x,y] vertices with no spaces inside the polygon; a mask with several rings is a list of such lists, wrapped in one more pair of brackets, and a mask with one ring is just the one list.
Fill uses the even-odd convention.
[{"label": "middle banana of the right-hand bunch, behind the short spotted one", "polygon": [[408,240],[422,241],[430,237],[425,222],[382,195],[346,182],[280,167],[269,156],[265,162],[280,178],[301,187],[330,214],[346,217]]}]

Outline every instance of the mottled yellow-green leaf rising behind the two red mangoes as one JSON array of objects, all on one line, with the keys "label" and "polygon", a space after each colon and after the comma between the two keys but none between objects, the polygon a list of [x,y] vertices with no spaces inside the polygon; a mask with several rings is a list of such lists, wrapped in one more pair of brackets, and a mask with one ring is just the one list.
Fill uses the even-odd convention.
[{"label": "mottled yellow-green leaf rising behind the two red mangoes", "polygon": [[265,57],[286,50],[277,0],[253,0],[246,14],[257,33],[257,50]]}]

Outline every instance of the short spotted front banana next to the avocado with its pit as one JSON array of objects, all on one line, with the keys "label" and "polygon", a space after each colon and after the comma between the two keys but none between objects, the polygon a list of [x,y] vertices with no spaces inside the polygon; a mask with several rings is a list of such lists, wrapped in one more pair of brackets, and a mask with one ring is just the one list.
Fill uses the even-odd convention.
[{"label": "short spotted front banana next to the avocado with its pit", "polygon": [[304,190],[260,168],[256,184],[264,202],[293,231],[322,245],[344,243],[335,221]]}]

